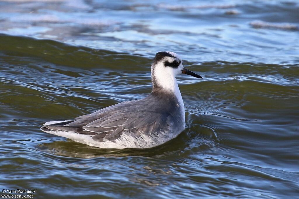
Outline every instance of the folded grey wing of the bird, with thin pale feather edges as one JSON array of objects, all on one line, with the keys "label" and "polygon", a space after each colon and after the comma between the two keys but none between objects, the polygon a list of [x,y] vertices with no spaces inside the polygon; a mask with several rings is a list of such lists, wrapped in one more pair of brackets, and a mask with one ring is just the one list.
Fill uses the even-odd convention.
[{"label": "folded grey wing of the bird, with thin pale feather edges", "polygon": [[167,111],[155,109],[150,104],[144,105],[142,100],[135,100],[82,115],[67,124],[50,125],[48,128],[75,131],[92,136],[95,141],[114,140],[124,132],[139,136],[166,130],[169,127],[169,116]]}]

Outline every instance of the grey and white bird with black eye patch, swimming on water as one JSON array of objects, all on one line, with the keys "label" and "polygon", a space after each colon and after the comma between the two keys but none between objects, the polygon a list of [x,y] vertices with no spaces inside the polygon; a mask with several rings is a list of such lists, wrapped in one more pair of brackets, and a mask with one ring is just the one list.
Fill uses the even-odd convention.
[{"label": "grey and white bird with black eye patch, swimming on water", "polygon": [[41,130],[100,148],[151,148],[177,137],[186,127],[176,75],[202,78],[183,67],[181,57],[164,51],[151,66],[152,92],[67,121],[46,122]]}]

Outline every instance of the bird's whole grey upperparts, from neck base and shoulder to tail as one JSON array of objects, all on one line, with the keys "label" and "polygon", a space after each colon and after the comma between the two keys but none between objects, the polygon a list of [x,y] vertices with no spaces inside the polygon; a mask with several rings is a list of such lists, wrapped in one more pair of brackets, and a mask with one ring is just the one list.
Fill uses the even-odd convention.
[{"label": "bird's whole grey upperparts, from neck base and shoulder to tail", "polygon": [[167,131],[170,124],[180,124],[181,120],[176,96],[156,91],[141,100],[115,104],[73,121],[44,128],[89,135],[95,141],[113,141],[124,132],[139,136],[142,133]]}]

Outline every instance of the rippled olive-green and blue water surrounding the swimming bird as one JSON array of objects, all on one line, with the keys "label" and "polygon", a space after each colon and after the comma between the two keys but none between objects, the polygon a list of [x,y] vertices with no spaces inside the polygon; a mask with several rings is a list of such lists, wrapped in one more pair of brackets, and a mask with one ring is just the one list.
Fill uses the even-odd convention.
[{"label": "rippled olive-green and blue water surrounding the swimming bird", "polygon": [[[298,8],[0,1],[0,188],[33,198],[298,197]],[[203,77],[177,78],[188,126],[177,138],[99,149],[39,129],[145,97],[152,57],[165,50]]]}]

